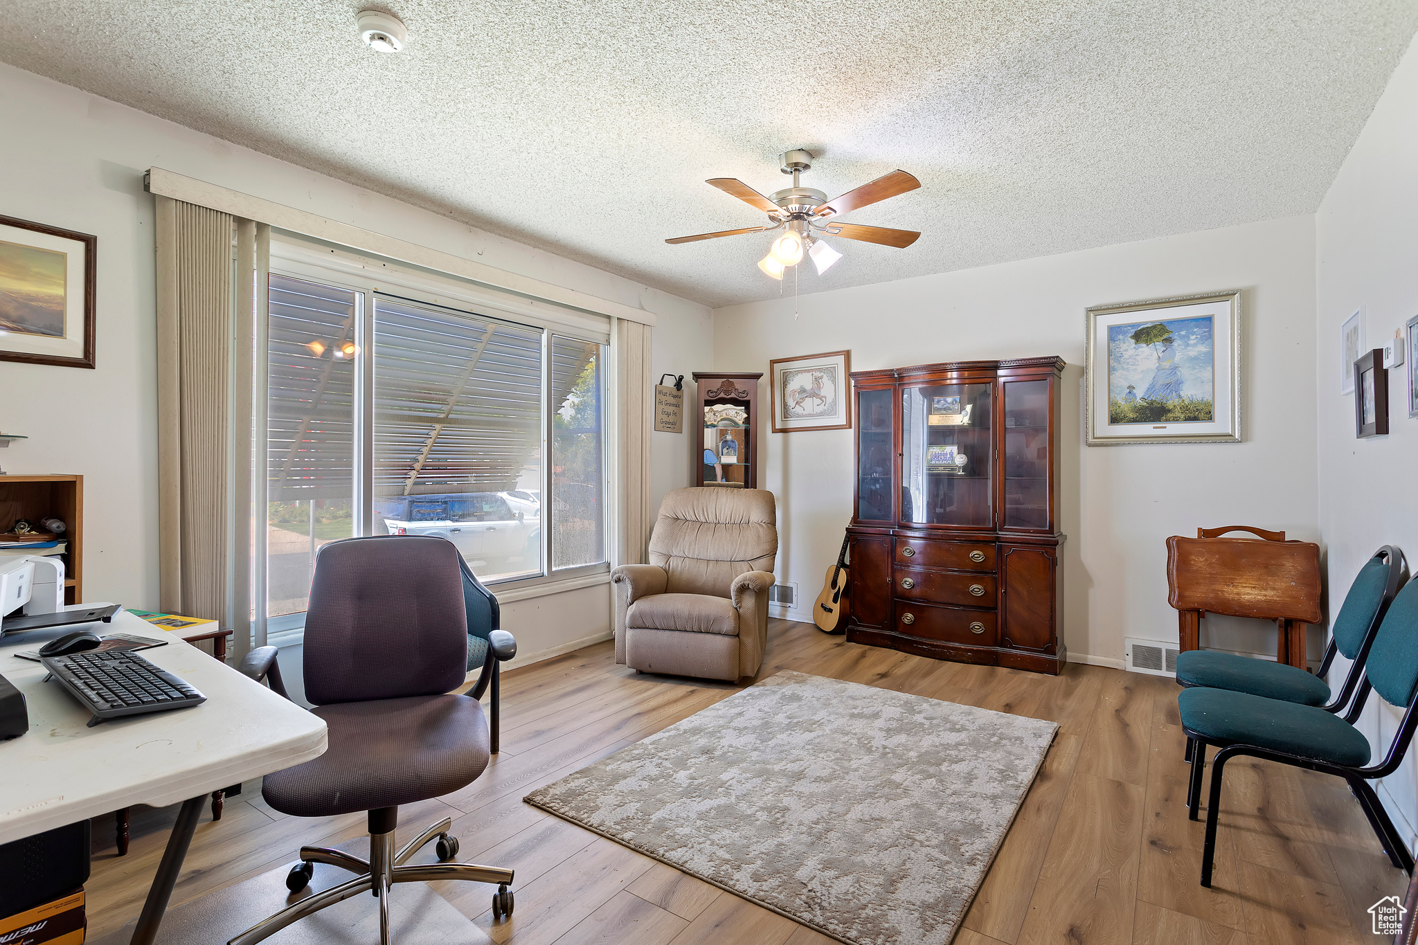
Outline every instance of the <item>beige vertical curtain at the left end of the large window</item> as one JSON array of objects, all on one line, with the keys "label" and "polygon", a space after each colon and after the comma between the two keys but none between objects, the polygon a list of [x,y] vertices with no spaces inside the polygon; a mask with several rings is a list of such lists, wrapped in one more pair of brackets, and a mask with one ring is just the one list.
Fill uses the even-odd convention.
[{"label": "beige vertical curtain at the left end of the large window", "polygon": [[240,657],[251,625],[252,317],[265,295],[257,247],[268,230],[156,201],[159,606],[235,626]]}]

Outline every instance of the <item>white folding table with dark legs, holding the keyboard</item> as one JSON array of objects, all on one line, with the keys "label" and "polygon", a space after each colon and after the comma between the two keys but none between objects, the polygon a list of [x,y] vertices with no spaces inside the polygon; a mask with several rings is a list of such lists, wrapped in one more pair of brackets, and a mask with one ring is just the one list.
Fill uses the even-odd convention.
[{"label": "white folding table with dark legs, holding the keyboard", "polygon": [[[169,640],[142,656],[196,686],[207,701],[89,728],[91,713],[57,681],[45,683],[40,663],[14,656],[74,629]],[[0,638],[0,673],[24,693],[30,711],[28,734],[0,741],[0,843],[135,803],[183,802],[133,945],[150,945],[157,935],[207,796],[325,751],[325,723],[316,715],[126,611],[112,623]]]}]

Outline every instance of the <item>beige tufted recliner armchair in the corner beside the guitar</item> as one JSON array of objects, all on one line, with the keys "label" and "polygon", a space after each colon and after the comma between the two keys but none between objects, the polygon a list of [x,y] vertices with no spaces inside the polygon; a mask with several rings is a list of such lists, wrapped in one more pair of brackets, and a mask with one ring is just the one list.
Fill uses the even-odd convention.
[{"label": "beige tufted recliner armchair in the corner beside the guitar", "polygon": [[753,676],[769,639],[778,551],[766,489],[676,489],[659,504],[649,564],[611,572],[615,662],[647,673]]}]

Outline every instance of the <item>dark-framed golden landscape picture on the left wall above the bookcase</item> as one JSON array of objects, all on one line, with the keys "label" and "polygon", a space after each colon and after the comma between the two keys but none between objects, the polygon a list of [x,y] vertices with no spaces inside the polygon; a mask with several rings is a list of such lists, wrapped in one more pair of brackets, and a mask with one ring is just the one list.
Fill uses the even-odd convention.
[{"label": "dark-framed golden landscape picture on the left wall above the bookcase", "polygon": [[94,367],[98,237],[0,217],[0,361]]}]

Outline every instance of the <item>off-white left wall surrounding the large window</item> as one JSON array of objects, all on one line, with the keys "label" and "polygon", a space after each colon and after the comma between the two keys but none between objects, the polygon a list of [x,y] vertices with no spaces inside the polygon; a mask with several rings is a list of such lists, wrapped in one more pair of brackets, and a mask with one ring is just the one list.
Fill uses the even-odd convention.
[{"label": "off-white left wall surrounding the large window", "polygon": [[[0,431],[30,436],[0,453],[0,466],[84,475],[89,601],[157,605],[153,198],[142,188],[150,166],[644,307],[658,316],[655,370],[708,350],[710,312],[702,305],[9,65],[0,65],[0,214],[98,237],[98,368],[0,361]],[[688,477],[682,439],[657,434],[657,487]],[[607,632],[608,613],[608,592],[598,587],[509,604],[503,623],[523,653],[535,653]]]}]

